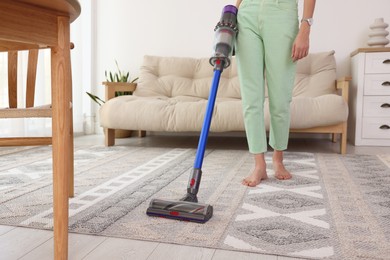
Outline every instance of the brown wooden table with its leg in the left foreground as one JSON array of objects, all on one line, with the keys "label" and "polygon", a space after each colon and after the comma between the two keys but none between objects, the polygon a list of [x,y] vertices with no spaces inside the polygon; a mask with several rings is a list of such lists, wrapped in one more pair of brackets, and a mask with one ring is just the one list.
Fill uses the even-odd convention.
[{"label": "brown wooden table with its leg in the left foreground", "polygon": [[73,175],[70,23],[77,0],[0,0],[0,51],[51,49],[54,258],[68,258],[69,176]]}]

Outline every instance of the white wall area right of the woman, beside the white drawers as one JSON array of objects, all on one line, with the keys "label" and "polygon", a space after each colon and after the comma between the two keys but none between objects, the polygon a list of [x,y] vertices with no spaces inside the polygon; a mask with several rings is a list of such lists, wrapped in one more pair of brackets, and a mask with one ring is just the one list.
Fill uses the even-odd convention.
[{"label": "white wall area right of the woman, beside the white drawers", "polygon": [[389,0],[317,0],[311,51],[335,50],[338,75],[350,75],[350,53],[368,47],[369,26],[375,18],[390,23],[389,10]]}]

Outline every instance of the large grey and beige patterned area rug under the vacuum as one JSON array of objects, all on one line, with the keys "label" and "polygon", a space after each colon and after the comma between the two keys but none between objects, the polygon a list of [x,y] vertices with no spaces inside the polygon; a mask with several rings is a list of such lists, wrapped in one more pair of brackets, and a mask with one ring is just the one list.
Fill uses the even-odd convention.
[{"label": "large grey and beige patterned area rug under the vacuum", "polygon": [[[0,224],[52,228],[50,147],[0,150]],[[240,185],[242,150],[207,150],[199,200],[206,224],[151,218],[151,198],[179,199],[194,149],[78,147],[69,230],[75,233],[309,259],[389,259],[390,155],[286,153],[292,180]]]}]

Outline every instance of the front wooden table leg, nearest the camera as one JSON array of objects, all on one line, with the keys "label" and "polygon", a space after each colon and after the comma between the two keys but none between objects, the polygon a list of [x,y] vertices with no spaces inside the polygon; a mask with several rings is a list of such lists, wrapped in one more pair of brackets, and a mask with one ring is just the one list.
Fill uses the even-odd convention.
[{"label": "front wooden table leg, nearest the camera", "polygon": [[70,21],[58,17],[58,46],[51,50],[53,105],[54,259],[68,259],[69,176],[73,170]]}]

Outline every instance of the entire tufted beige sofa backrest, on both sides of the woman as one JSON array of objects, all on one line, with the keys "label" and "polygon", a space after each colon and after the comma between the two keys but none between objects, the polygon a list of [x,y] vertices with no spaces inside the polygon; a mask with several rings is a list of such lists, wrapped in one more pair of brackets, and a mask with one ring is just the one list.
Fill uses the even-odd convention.
[{"label": "entire tufted beige sofa backrest, on both sides of the woman", "polygon": [[[208,98],[213,67],[209,58],[145,56],[136,96],[192,96]],[[334,51],[309,54],[298,61],[293,96],[334,93],[336,62]],[[235,59],[221,75],[218,97],[241,98]]]}]

